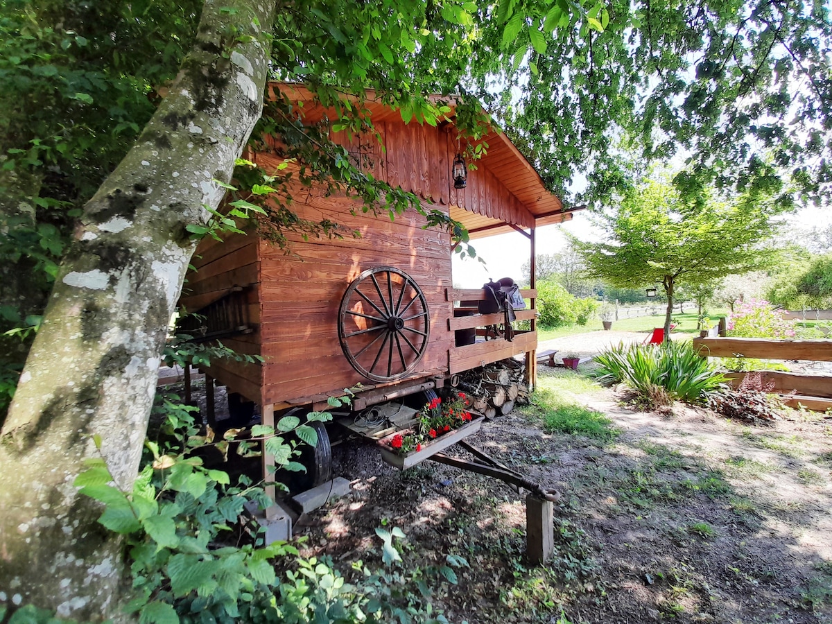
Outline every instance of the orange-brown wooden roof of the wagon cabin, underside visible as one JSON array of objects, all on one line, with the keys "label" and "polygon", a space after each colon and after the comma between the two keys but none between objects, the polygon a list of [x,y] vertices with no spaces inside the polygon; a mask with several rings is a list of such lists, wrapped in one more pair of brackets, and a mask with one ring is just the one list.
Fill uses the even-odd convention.
[{"label": "orange-brown wooden roof of the wagon cabin, underside visible", "polygon": [[[319,121],[328,112],[324,106],[314,103],[314,94],[305,87],[286,82],[273,82],[271,87],[272,97],[275,91],[280,91],[292,100],[305,102],[304,118],[307,121]],[[433,101],[447,102],[448,100],[447,97],[429,97]],[[369,111],[373,121],[396,120],[400,122],[402,119],[397,109],[374,99],[374,92],[368,92],[367,99],[361,103]],[[448,106],[451,106],[452,111],[444,121],[448,131],[452,131],[454,127],[453,102],[449,102]],[[488,143],[488,150],[477,161],[477,166],[486,167],[518,199],[529,213],[528,220],[533,220],[536,227],[562,223],[572,219],[573,212],[582,210],[584,206],[564,208],[560,199],[547,190],[537,171],[503,131],[493,127],[492,131],[483,136],[482,141]],[[517,225],[510,225],[504,220],[465,210],[453,203],[450,204],[449,210],[453,219],[460,221],[468,228],[472,238],[504,234],[517,229]]]}]

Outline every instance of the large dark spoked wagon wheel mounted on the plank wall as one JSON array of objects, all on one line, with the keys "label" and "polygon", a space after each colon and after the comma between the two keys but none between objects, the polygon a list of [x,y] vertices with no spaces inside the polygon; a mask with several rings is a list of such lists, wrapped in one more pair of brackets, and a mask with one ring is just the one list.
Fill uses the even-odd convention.
[{"label": "large dark spoked wagon wheel mounted on the plank wall", "polygon": [[349,285],[338,314],[341,349],[373,381],[401,379],[428,349],[430,317],[422,289],[392,266],[365,270]]}]

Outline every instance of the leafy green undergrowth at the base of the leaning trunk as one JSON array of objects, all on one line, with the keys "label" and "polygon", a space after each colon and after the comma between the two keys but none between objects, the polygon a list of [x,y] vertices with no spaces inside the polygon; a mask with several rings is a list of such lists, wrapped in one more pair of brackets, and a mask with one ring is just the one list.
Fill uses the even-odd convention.
[{"label": "leafy green undergrowth at the base of the leaning trunk", "polygon": [[[158,433],[146,441],[130,492],[116,487],[102,458],[88,459],[75,481],[82,493],[102,503],[99,522],[125,537],[133,592],[126,612],[148,624],[447,622],[430,606],[428,582],[456,583],[453,568],[468,566],[463,557],[448,554],[441,565],[411,571],[394,542],[404,532],[379,529],[384,569],[371,571],[358,562],[356,582],[346,582],[329,559],[300,557],[288,542],[265,545],[246,512],[250,505],[271,504],[265,483],[243,475],[232,484],[228,473],[207,468],[202,459],[209,448],[227,455],[231,443],[240,455],[258,455],[263,442],[278,467],[303,471],[296,461],[300,445],[317,443],[309,423],[325,422],[330,414],[309,414],[307,423],[285,416],[275,428],[232,429],[215,440],[196,423],[196,410],[175,394],[157,396]],[[290,442],[289,433],[300,442]],[[95,442],[100,446],[100,439]]]}]

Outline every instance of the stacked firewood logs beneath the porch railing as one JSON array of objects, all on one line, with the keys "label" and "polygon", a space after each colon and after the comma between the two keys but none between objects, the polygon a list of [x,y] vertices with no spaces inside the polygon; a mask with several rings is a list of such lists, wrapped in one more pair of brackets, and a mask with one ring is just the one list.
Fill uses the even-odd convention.
[{"label": "stacked firewood logs beneath the porch railing", "polygon": [[515,405],[528,404],[525,366],[513,358],[453,375],[451,385],[473,400],[472,412],[486,418],[503,416]]}]

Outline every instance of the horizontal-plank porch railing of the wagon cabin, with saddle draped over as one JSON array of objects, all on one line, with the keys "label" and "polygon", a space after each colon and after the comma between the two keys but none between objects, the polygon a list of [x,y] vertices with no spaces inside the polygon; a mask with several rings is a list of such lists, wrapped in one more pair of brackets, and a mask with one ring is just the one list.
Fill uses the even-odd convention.
[{"label": "horizontal-plank porch railing of the wagon cabin, with saddle draped over", "polygon": [[[453,302],[485,300],[485,291],[483,289],[474,290],[449,288],[445,295],[448,301]],[[534,310],[534,300],[537,298],[537,290],[521,290],[520,295],[523,299],[532,300],[532,309],[516,310],[515,315],[517,316],[517,319],[535,319],[537,312]],[[502,324],[504,319],[505,317],[503,313],[479,314],[478,312],[474,312],[468,316],[456,316],[452,319],[448,319],[448,329],[451,331],[458,331],[461,329],[478,329],[478,331],[484,331],[484,329],[489,325]],[[511,341],[498,338],[452,347],[449,349],[448,353],[449,369],[451,374],[456,374],[461,373],[464,370],[475,369],[478,366],[485,366],[486,364],[498,362],[501,359],[511,358],[514,355],[531,353],[532,356],[527,357],[528,376],[533,374],[533,369],[528,369],[528,362],[531,361],[533,363],[533,353],[535,349],[537,349],[537,331],[533,329],[531,331],[517,331],[514,335],[514,339]]]}]

